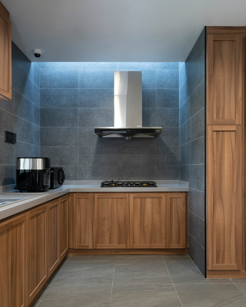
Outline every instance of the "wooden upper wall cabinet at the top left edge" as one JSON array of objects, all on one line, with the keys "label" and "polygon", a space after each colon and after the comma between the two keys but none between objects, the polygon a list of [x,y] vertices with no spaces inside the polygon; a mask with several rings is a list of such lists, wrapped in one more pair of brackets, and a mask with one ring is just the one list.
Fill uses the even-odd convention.
[{"label": "wooden upper wall cabinet at the top left edge", "polygon": [[0,100],[11,99],[11,22],[0,2]]}]

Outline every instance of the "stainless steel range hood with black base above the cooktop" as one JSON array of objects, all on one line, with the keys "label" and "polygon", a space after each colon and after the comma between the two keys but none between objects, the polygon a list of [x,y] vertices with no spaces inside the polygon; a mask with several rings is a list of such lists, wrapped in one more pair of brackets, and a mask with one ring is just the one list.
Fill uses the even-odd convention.
[{"label": "stainless steel range hood with black base above the cooktop", "polygon": [[161,127],[142,127],[142,72],[114,72],[114,127],[95,127],[100,138],[156,138]]}]

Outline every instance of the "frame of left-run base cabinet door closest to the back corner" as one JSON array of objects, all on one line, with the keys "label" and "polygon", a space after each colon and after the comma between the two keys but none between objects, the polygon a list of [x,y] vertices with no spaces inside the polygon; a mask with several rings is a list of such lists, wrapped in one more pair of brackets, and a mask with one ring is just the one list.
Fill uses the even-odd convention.
[{"label": "frame of left-run base cabinet door closest to the back corner", "polygon": [[[66,225],[62,224],[62,202],[66,201],[66,208],[65,208],[65,216],[66,216]],[[62,258],[65,257],[65,255],[67,254],[68,251],[68,195],[62,196],[59,198],[59,205],[58,205],[58,211],[59,211],[59,218],[58,218],[58,242],[59,242],[59,262],[62,260]],[[65,235],[66,235],[66,244],[65,244],[65,249],[62,250],[62,244],[61,244],[61,240],[62,240],[62,228],[66,227],[66,231],[65,231]]]}]

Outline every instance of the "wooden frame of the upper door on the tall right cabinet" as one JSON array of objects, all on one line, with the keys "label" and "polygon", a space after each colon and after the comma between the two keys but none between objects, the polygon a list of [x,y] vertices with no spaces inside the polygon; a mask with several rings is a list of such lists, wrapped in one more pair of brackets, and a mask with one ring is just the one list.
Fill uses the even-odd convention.
[{"label": "wooden frame of the upper door on the tall right cabinet", "polygon": [[[216,119],[216,103],[214,103],[213,80],[213,41],[235,41],[235,119]],[[244,122],[244,79],[242,66],[243,44],[240,34],[207,34],[207,125],[242,125]],[[221,59],[223,60],[223,59]],[[227,95],[228,96],[228,95]]]}]

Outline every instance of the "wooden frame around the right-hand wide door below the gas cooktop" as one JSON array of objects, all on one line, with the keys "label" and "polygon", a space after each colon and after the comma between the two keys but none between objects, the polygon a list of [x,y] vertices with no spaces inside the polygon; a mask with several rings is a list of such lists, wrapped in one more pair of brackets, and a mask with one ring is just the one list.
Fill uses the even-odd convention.
[{"label": "wooden frame around the right-hand wide door below the gas cooktop", "polygon": [[[134,198],[162,199],[162,244],[134,244]],[[166,194],[165,193],[133,193],[130,194],[130,248],[166,248]]]}]

